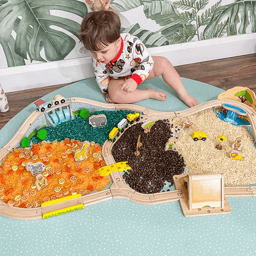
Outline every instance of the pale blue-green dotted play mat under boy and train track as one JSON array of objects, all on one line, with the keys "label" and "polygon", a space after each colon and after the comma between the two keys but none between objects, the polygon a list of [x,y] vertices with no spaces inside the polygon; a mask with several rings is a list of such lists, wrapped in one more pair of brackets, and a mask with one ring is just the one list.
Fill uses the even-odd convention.
[{"label": "pale blue-green dotted play mat under boy and train track", "polygon": [[[223,90],[183,78],[188,92],[200,103],[213,100]],[[162,78],[145,81],[168,94],[165,102],[145,100],[137,105],[159,111],[187,109]],[[94,78],[45,95],[105,99]],[[34,111],[23,109],[0,131],[3,147]],[[228,197],[230,214],[186,218],[180,203],[140,205],[127,199],[86,206],[85,209],[47,220],[13,220],[0,216],[0,255],[256,255],[254,197]]]}]

